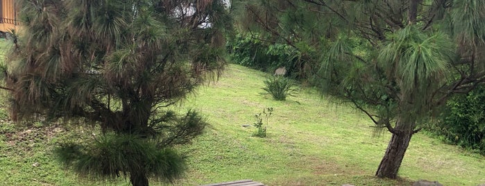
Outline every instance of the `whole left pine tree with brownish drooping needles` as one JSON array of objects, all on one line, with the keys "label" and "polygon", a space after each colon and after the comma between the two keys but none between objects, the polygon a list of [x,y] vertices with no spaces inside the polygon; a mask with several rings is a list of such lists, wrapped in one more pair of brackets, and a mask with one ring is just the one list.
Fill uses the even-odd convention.
[{"label": "whole left pine tree with brownish drooping needles", "polygon": [[22,33],[6,62],[12,117],[100,126],[103,136],[63,158],[81,175],[121,172],[133,185],[180,175],[171,146],[187,144],[206,123],[193,110],[179,116],[167,107],[221,74],[231,27],[225,1],[23,0],[19,7]]}]

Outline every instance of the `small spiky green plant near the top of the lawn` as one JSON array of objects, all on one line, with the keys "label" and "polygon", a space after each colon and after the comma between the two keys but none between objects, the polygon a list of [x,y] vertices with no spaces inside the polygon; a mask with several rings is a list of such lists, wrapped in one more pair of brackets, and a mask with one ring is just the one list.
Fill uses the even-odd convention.
[{"label": "small spiky green plant near the top of the lawn", "polygon": [[276,101],[284,101],[287,99],[287,96],[294,96],[297,92],[297,89],[293,88],[295,84],[289,78],[282,76],[266,78],[264,85],[265,87],[262,89],[266,93],[261,94],[271,94]]}]

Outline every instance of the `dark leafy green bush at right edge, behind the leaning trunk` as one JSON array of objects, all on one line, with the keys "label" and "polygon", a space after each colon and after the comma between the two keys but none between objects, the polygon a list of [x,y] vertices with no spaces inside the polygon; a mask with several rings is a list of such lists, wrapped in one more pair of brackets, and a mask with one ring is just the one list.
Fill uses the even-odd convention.
[{"label": "dark leafy green bush at right edge, behind the leaning trunk", "polygon": [[445,142],[485,154],[485,87],[448,100],[434,124],[434,133]]}]

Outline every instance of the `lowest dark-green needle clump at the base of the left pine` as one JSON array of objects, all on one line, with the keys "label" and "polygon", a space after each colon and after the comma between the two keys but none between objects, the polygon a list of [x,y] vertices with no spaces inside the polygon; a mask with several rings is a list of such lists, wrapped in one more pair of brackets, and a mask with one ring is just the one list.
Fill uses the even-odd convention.
[{"label": "lowest dark-green needle clump at the base of the left pine", "polygon": [[82,178],[90,180],[130,178],[133,172],[162,181],[179,178],[185,170],[182,156],[154,144],[137,135],[106,133],[86,146],[63,144],[56,153]]}]

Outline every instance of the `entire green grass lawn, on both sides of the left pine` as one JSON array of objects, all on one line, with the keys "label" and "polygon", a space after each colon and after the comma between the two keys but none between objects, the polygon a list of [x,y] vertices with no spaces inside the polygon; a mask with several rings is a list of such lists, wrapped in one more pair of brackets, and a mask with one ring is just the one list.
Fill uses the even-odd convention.
[{"label": "entire green grass lawn, on both sides of the left pine", "polygon": [[[373,175],[384,155],[389,133],[374,137],[371,122],[348,105],[314,90],[301,90],[287,101],[259,95],[268,74],[230,65],[216,83],[199,88],[176,109],[198,110],[210,128],[192,145],[185,178],[173,185],[201,185],[253,179],[266,185],[411,185],[438,180],[443,185],[485,183],[485,158],[457,146],[417,134],[402,162],[399,180]],[[266,138],[252,137],[254,115],[274,108]],[[60,140],[89,136],[87,128],[40,124],[16,127],[0,110],[0,185],[99,185],[80,183],[51,153]],[[39,162],[37,166],[33,166]],[[128,185],[124,179],[112,185]],[[151,182],[151,185],[164,185]]]}]

